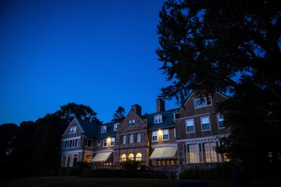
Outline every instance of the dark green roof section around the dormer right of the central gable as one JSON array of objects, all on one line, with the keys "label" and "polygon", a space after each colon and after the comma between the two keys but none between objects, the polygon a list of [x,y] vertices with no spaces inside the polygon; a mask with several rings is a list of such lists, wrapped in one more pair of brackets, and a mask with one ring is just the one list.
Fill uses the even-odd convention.
[{"label": "dark green roof section around the dormer right of the central gable", "polygon": [[[174,123],[174,112],[177,112],[178,108],[173,110],[166,110],[164,112],[155,112],[149,115],[145,115],[145,118],[148,118],[148,130],[153,129],[162,129],[166,127],[175,127]],[[155,124],[154,117],[155,115],[162,115],[162,122]]]}]

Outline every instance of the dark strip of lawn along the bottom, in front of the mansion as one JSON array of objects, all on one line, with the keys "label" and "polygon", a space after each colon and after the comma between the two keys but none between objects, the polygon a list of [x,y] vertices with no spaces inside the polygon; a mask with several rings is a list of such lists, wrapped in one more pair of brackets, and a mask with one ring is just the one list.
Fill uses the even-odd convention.
[{"label": "dark strip of lawn along the bottom, in front of the mansion", "polygon": [[[168,179],[131,179],[131,178],[85,178],[78,176],[46,176],[5,179],[0,181],[1,187],[171,187],[178,186],[179,180]],[[230,181],[209,181],[210,187],[228,187]]]}]

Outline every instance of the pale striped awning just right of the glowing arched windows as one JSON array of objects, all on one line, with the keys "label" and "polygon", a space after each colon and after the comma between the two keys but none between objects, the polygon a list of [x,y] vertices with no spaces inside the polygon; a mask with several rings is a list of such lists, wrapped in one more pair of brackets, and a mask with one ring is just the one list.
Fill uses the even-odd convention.
[{"label": "pale striped awning just right of the glowing arched windows", "polygon": [[178,150],[177,146],[155,148],[150,155],[150,160],[174,158],[176,150]]}]

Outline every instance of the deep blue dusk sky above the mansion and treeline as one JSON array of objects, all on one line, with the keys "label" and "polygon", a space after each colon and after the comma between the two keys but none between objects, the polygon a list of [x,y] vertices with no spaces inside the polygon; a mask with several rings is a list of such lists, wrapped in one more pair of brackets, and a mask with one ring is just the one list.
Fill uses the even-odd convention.
[{"label": "deep blue dusk sky above the mansion and treeline", "polygon": [[0,124],[37,120],[70,102],[89,105],[103,122],[119,105],[155,112],[169,84],[155,53],[162,4],[2,0]]}]

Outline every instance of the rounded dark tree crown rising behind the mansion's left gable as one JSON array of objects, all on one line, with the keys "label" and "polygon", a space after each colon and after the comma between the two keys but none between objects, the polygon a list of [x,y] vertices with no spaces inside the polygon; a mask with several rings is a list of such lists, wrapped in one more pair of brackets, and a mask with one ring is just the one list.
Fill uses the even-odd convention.
[{"label": "rounded dark tree crown rising behind the mansion's left gable", "polygon": [[67,103],[66,105],[60,106],[60,110],[56,111],[54,115],[66,120],[67,124],[70,124],[74,117],[96,124],[101,123],[96,117],[97,113],[93,109],[77,103]]}]

